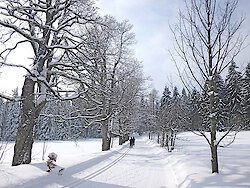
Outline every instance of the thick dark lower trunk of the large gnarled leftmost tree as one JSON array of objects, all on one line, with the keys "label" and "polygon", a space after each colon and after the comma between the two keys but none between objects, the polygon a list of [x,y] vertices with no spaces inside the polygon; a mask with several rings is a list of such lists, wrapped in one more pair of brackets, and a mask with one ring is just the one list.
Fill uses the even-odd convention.
[{"label": "thick dark lower trunk of the large gnarled leftmost tree", "polygon": [[21,120],[17,129],[12,166],[31,162],[34,127],[39,113],[45,105],[45,103],[42,103],[38,107],[35,106],[34,85],[35,82],[32,79],[25,78],[22,89]]}]

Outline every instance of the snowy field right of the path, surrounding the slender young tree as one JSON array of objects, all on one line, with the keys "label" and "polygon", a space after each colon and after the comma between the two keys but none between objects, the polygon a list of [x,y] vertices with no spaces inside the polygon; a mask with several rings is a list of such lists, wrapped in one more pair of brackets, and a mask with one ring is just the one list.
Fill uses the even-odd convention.
[{"label": "snowy field right of the path, surrounding the slender young tree", "polygon": [[[226,140],[224,142],[227,142]],[[193,133],[178,135],[177,148],[169,165],[179,188],[250,187],[250,132],[237,134],[233,144],[218,148],[219,174],[211,174],[210,148],[203,137]]]}]

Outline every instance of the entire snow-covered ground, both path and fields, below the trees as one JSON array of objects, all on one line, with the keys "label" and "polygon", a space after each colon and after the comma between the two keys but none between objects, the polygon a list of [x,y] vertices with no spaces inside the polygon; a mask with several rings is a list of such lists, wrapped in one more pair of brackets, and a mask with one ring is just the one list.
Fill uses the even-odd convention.
[{"label": "entire snow-covered ground, both path and fields, below the trees", "polygon": [[[178,135],[176,150],[169,153],[155,141],[136,137],[134,148],[117,140],[102,152],[100,139],[53,141],[46,155],[58,154],[59,176],[46,172],[43,142],[33,147],[32,164],[11,167],[13,143],[0,164],[0,187],[86,188],[247,188],[250,187],[250,132],[240,132],[235,142],[219,148],[220,174],[211,174],[210,151],[202,137]],[[45,158],[47,159],[47,158]]]}]

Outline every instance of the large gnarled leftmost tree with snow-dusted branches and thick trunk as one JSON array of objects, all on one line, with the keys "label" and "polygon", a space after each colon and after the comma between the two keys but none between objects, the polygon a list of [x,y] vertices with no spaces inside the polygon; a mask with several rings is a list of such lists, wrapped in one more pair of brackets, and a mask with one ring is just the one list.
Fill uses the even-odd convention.
[{"label": "large gnarled leftmost tree with snow-dusted branches and thick trunk", "polygon": [[[33,129],[46,104],[46,96],[52,94],[61,98],[59,78],[69,77],[60,71],[61,67],[74,66],[64,64],[63,60],[69,51],[76,51],[82,45],[75,32],[76,26],[94,22],[96,16],[91,0],[6,0],[1,1],[0,15],[0,26],[4,31],[1,42],[10,45],[0,52],[1,65],[22,67],[27,71],[20,99],[21,120],[12,162],[15,166],[31,162]],[[9,54],[24,43],[32,47],[32,65],[25,67],[19,62],[10,64]],[[79,95],[76,93],[74,97]],[[1,97],[11,99],[4,95]]]}]

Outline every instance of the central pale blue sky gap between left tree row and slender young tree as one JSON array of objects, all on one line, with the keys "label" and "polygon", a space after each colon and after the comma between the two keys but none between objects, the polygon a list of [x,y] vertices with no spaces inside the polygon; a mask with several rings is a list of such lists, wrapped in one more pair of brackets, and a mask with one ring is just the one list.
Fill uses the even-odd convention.
[{"label": "central pale blue sky gap between left tree row and slender young tree", "polygon": [[183,0],[98,0],[100,14],[109,14],[119,21],[129,20],[134,26],[137,44],[136,57],[143,61],[146,76],[152,79],[151,86],[162,90],[166,84],[177,81],[177,71],[169,58],[172,45],[169,24],[177,16]]}]

